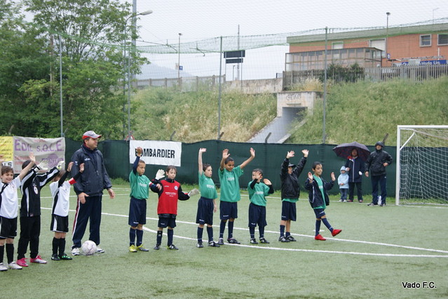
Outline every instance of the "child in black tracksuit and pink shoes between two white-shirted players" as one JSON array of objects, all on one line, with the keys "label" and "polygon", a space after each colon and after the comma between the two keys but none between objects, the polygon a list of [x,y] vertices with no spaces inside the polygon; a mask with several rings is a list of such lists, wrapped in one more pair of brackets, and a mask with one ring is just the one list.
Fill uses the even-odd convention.
[{"label": "child in black tracksuit and pink shoes between two white-shirted players", "polygon": [[[27,160],[22,164],[22,168],[31,161]],[[64,161],[59,161],[57,166],[46,173],[39,174],[39,171],[46,171],[47,162],[41,161],[41,164],[32,168],[22,181],[20,191],[22,192],[22,201],[20,203],[20,239],[17,249],[17,264],[22,267],[28,267],[25,253],[29,244],[29,261],[36,264],[46,264],[39,255],[39,236],[41,234],[41,189],[59,173]]]}]

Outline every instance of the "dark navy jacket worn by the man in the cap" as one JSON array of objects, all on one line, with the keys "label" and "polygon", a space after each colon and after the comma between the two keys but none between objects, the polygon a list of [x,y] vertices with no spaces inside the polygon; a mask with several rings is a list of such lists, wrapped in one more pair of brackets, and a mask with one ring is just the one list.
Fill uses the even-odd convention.
[{"label": "dark navy jacket worn by the man in the cap", "polygon": [[79,165],[84,164],[81,177],[73,185],[76,194],[84,192],[89,196],[98,196],[102,194],[102,190],[112,187],[111,180],[104,167],[102,153],[99,150],[90,150],[81,145],[81,148],[74,152],[72,161],[74,162],[72,176],[79,173]]}]

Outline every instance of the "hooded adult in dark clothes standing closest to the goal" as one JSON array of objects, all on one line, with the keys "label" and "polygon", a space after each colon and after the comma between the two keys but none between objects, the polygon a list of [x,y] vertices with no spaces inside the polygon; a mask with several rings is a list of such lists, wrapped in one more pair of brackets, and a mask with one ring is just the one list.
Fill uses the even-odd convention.
[{"label": "hooded adult in dark clothes standing closest to the goal", "polygon": [[379,141],[375,144],[375,151],[365,161],[365,176],[372,181],[372,202],[367,206],[378,206],[378,184],[381,187],[381,204],[386,206],[386,167],[392,164],[392,157],[383,150],[384,144]]}]

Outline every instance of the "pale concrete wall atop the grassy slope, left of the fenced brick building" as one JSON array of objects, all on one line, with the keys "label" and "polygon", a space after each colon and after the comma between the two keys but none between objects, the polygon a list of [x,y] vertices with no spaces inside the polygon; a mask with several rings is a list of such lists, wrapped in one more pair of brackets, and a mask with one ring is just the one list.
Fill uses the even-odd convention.
[{"label": "pale concrete wall atop the grassy slope, left of the fenced brick building", "polygon": [[243,81],[226,81],[225,91],[239,91],[241,93],[278,93],[282,91],[282,78],[258,79]]}]

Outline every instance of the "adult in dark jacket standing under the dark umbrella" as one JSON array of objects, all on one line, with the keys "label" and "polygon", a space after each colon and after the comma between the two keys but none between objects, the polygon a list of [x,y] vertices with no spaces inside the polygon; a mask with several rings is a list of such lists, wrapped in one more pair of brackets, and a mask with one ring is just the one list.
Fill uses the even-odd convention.
[{"label": "adult in dark jacket standing under the dark umbrella", "polygon": [[351,150],[351,156],[346,161],[346,171],[348,174],[348,202],[353,202],[355,196],[355,187],[358,194],[358,201],[362,199],[362,173],[365,172],[365,161],[358,156],[358,150]]}]

